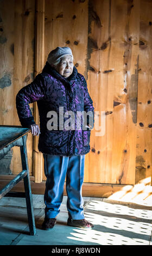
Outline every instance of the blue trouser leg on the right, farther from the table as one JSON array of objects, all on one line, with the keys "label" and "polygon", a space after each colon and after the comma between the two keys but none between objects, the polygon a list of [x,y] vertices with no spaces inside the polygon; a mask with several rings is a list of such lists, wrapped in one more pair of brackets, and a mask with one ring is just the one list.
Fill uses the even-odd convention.
[{"label": "blue trouser leg on the right, farther from the table", "polygon": [[70,156],[66,175],[67,210],[73,220],[84,219],[82,185],[85,155]]}]

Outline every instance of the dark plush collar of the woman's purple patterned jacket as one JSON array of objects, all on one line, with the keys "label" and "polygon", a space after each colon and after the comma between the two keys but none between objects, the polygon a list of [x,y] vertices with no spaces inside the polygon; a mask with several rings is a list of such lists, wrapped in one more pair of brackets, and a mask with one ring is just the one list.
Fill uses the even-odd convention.
[{"label": "dark plush collar of the woman's purple patterned jacket", "polygon": [[72,85],[77,77],[78,70],[74,66],[72,74],[68,78],[65,78],[64,76],[61,76],[58,71],[56,71],[54,68],[52,68],[52,66],[50,66],[48,62],[46,62],[45,66],[42,70],[42,73],[47,73],[47,74],[55,77],[56,79],[60,80],[62,83],[66,83],[66,84],[68,83],[68,84]]}]

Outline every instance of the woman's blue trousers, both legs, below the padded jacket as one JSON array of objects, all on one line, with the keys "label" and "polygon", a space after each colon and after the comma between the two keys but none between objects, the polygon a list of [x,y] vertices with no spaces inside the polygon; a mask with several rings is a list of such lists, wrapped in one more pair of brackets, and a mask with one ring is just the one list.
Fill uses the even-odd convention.
[{"label": "woman's blue trousers, both legs, below the padded jacket", "polygon": [[43,157],[47,178],[44,197],[46,217],[55,218],[59,214],[66,178],[68,215],[73,220],[83,219],[84,210],[81,192],[84,181],[85,155],[57,156],[43,154]]}]

